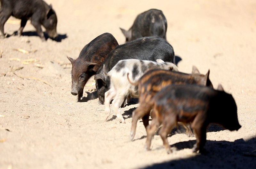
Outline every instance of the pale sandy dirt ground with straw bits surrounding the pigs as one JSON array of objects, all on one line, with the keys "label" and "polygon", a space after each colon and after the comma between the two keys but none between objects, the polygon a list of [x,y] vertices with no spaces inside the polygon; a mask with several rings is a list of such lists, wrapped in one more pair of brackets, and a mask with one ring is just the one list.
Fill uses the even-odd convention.
[{"label": "pale sandy dirt ground with straw bits surrounding the pigs", "polygon": [[[30,22],[23,36],[13,35],[20,20],[12,17],[4,26],[7,38],[0,39],[0,169],[256,168],[255,0],[46,2],[57,13],[59,42],[42,42]],[[70,93],[66,56],[77,58],[105,32],[123,44],[119,27],[128,30],[139,13],[151,8],[167,18],[167,40],[179,70],[190,73],[195,65],[206,74],[210,69],[214,87],[222,84],[236,100],[242,128],[231,132],[211,126],[205,154],[192,153],[195,137],[177,132],[168,137],[172,154],[157,134],[146,151],[141,120],[130,141],[131,115],[138,104],[122,108],[122,124],[112,106],[104,121],[104,105],[88,99],[96,93],[93,80],[82,102]]]}]

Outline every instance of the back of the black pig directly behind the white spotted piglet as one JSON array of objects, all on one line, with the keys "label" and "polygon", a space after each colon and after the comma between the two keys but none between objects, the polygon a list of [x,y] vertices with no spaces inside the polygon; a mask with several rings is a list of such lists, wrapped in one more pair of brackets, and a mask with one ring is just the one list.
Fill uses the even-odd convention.
[{"label": "back of the black pig directly behind the white spotted piglet", "polygon": [[[119,60],[140,59],[151,60],[162,59],[164,62],[175,64],[174,50],[172,46],[160,37],[143,37],[123,45],[118,45],[112,50],[104,61],[105,71],[111,70]],[[101,66],[99,73],[103,72]]]}]

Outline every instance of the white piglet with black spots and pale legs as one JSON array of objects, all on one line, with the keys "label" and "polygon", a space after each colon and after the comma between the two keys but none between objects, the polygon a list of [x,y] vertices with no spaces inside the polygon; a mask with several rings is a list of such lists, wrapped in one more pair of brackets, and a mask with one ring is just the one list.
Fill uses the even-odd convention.
[{"label": "white piglet with black spots and pale legs", "polygon": [[129,98],[138,97],[136,88],[129,83],[127,76],[130,77],[132,82],[135,82],[149,69],[178,71],[175,64],[171,62],[164,62],[161,59],[156,59],[156,62],[138,59],[125,59],[118,61],[107,73],[107,76],[110,79],[110,89],[105,92],[104,104],[106,120],[110,115],[110,101],[113,99],[112,103],[117,114],[117,119],[119,122],[125,123],[120,107],[125,99],[129,100]]}]

